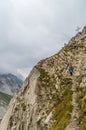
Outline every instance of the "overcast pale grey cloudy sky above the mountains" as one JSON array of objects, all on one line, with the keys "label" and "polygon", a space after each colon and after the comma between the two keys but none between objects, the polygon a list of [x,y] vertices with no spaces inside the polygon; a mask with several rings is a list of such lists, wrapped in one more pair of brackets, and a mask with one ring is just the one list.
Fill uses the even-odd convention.
[{"label": "overcast pale grey cloudy sky above the mountains", "polygon": [[0,74],[26,76],[86,25],[86,0],[0,0]]}]

